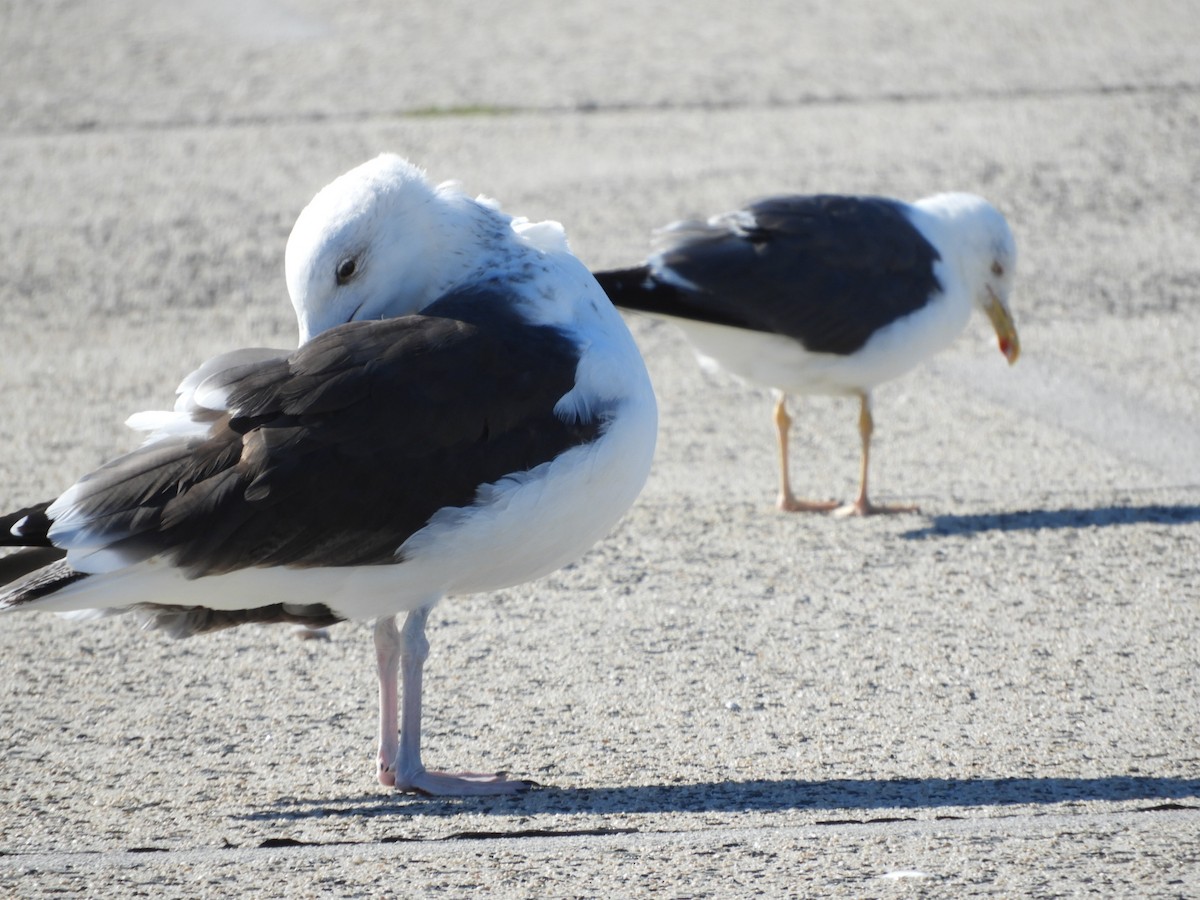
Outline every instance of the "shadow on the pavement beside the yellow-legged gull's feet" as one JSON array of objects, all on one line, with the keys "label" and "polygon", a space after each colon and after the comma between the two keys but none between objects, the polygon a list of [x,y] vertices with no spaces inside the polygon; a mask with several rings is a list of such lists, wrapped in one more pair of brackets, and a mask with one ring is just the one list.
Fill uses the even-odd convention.
[{"label": "shadow on the pavement beside the yellow-legged gull's feet", "polygon": [[1057,528],[1109,528],[1130,524],[1189,524],[1200,522],[1194,504],[1033,509],[934,516],[929,524],[901,533],[905,540],[926,540],[983,532],[1037,532]]}]

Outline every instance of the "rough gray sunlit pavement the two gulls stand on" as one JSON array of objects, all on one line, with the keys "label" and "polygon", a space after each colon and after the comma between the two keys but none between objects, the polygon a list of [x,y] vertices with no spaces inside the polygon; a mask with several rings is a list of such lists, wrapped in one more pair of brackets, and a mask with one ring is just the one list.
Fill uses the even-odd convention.
[{"label": "rough gray sunlit pavement the two gulls stand on", "polygon": [[[410,4],[407,6],[418,6]],[[594,266],[784,190],[989,197],[982,318],[878,391],[920,515],[776,514],[769,397],[635,319],[650,481],[578,564],[432,618],[427,758],[373,782],[368,629],[0,622],[0,893],[1200,895],[1194,4],[0,6],[0,504],[295,326],[283,244],[380,150]],[[798,407],[850,497],[856,410]]]}]

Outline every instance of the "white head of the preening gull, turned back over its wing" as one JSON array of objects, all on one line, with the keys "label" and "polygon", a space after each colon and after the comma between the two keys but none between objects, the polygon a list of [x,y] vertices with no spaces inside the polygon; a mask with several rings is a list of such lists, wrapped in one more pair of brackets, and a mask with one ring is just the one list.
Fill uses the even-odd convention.
[{"label": "white head of the preening gull, turned back over its wing", "polygon": [[350,169],[305,206],[288,238],[288,293],[300,342],[352,320],[418,312],[468,266],[455,241],[478,204],[392,154]]}]

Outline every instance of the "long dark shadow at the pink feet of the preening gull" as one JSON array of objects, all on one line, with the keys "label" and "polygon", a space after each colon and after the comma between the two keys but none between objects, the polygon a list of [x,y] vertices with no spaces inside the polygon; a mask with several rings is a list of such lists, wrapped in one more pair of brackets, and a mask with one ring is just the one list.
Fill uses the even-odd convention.
[{"label": "long dark shadow at the pink feet of the preening gull", "polygon": [[[1194,799],[1195,804],[1178,804]],[[803,779],[710,781],[628,787],[541,786],[510,797],[443,799],[409,794],[331,798],[287,797],[270,809],[234,816],[244,821],[299,822],[326,817],[475,815],[612,815],[662,812],[784,812],[828,810],[850,816],[871,810],[899,817],[918,809],[1015,806],[1146,800],[1150,809],[1200,809],[1200,779],[1108,775],[1099,778]]]}]

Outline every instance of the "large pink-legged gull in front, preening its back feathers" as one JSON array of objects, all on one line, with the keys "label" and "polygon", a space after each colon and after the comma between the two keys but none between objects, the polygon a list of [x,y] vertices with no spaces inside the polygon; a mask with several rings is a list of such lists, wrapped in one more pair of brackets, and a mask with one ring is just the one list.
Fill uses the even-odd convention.
[{"label": "large pink-legged gull in front, preening its back feathers", "polygon": [[301,212],[287,281],[299,349],[210,360],[131,419],[139,449],[0,520],[22,552],[67,552],[0,610],[134,611],[178,637],[376,619],[379,780],[520,791],[422,764],[426,620],[578,558],[634,502],[656,412],[632,337],[560,226],[391,155]]}]

